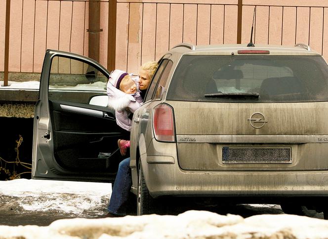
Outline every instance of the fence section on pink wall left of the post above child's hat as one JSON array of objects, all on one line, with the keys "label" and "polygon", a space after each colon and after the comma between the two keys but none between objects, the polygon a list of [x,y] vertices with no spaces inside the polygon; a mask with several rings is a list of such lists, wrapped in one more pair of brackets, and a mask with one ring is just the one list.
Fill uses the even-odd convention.
[{"label": "fence section on pink wall left of the post above child's hat", "polygon": [[[106,64],[108,1],[100,5],[100,61]],[[47,48],[88,55],[88,7],[88,0],[11,0],[9,44],[0,46],[1,53],[9,48],[9,71],[41,72]]]}]

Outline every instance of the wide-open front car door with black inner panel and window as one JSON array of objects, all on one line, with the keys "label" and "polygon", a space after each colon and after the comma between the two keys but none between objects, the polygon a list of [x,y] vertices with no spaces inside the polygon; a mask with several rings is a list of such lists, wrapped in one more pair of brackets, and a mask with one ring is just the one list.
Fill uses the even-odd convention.
[{"label": "wide-open front car door with black inner panel and window", "polygon": [[[114,182],[129,139],[107,107],[110,73],[82,55],[47,50],[33,133],[33,179]],[[100,99],[100,101],[96,99]]]}]

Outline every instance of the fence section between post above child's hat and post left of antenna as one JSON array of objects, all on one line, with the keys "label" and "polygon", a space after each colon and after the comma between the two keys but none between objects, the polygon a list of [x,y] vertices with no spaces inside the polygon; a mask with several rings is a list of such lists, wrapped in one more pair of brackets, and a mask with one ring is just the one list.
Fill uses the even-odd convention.
[{"label": "fence section between post above child's hat and post left of antenna", "polygon": [[237,43],[238,4],[120,2],[118,12],[116,65],[129,72],[181,42]]}]

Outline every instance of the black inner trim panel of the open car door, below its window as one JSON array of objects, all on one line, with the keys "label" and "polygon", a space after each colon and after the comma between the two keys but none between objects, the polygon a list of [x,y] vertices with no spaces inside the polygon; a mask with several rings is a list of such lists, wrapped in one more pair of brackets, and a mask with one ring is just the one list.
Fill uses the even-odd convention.
[{"label": "black inner trim panel of the open car door, below its window", "polygon": [[[67,105],[70,102],[63,103]],[[129,139],[129,133],[116,124],[113,112],[103,107],[114,120],[62,110],[60,104],[57,100],[49,101],[53,126],[51,137],[57,163],[69,171],[116,173],[123,159],[120,151],[116,151],[117,141]],[[72,106],[77,106],[77,103],[72,103]],[[88,105],[83,104],[83,107]],[[112,155],[103,156],[100,153]]]}]

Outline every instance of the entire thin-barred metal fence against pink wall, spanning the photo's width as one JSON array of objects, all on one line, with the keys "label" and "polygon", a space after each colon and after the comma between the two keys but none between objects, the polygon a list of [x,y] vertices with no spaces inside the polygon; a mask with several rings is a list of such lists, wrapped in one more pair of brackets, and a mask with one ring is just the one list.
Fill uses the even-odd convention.
[{"label": "entire thin-barred metal fence against pink wall, spanning the photo's width", "polygon": [[[95,1],[95,0],[92,0]],[[172,46],[189,42],[247,44],[255,8],[255,44],[305,43],[328,57],[328,2],[313,0],[96,0],[100,4],[99,62],[136,72]],[[0,16],[0,71],[39,73],[47,48],[89,55],[91,0],[11,0],[9,43]],[[5,2],[0,7],[5,9]],[[116,38],[109,40],[111,7]],[[8,49],[8,59],[4,57]],[[111,58],[112,57],[112,58]]]}]

